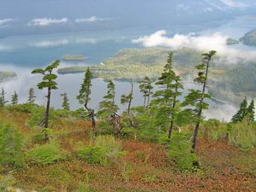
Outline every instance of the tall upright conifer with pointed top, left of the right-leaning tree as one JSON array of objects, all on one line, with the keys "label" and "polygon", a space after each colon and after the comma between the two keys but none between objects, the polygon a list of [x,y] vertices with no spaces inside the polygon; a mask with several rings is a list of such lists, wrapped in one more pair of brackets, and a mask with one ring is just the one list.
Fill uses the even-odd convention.
[{"label": "tall upright conifer with pointed top, left of the right-leaning tree", "polygon": [[177,97],[182,95],[182,92],[179,90],[183,89],[180,76],[173,70],[172,52],[168,55],[164,73],[161,74],[156,84],[160,85],[160,90],[154,93],[154,97],[156,97],[154,102],[158,105],[160,113],[164,114],[166,121],[170,123],[168,130],[168,138],[170,139],[178,113],[177,104],[179,101]]}]

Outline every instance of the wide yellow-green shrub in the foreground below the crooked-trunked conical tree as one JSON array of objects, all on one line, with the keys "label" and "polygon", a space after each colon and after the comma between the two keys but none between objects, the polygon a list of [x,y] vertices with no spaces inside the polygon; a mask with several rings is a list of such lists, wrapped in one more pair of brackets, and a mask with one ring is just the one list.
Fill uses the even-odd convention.
[{"label": "wide yellow-green shrub in the foreground below the crooked-trunked conical tree", "polygon": [[84,146],[79,143],[76,148],[79,158],[90,163],[107,165],[110,160],[116,160],[120,155],[121,145],[115,141],[113,136],[98,136],[93,145]]}]

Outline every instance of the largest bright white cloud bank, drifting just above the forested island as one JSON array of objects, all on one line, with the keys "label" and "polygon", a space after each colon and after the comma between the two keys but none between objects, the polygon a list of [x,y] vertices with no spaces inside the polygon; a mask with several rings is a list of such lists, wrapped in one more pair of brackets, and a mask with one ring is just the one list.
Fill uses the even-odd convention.
[{"label": "largest bright white cloud bank, drifting just above the forested island", "polygon": [[196,36],[194,33],[176,34],[172,37],[167,37],[166,33],[165,30],[160,30],[151,35],[134,39],[132,43],[143,44],[144,47],[167,47],[172,49],[189,47],[201,51],[214,49],[218,51],[220,61],[225,63],[256,60],[256,50],[233,48],[227,44],[229,37],[220,32],[200,36]]}]

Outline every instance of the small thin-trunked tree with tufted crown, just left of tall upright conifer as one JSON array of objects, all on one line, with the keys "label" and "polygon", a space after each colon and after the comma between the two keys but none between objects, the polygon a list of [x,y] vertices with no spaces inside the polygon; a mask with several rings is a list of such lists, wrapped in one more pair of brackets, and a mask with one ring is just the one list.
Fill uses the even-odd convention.
[{"label": "small thin-trunked tree with tufted crown, just left of tall upright conifer", "polygon": [[143,93],[144,102],[143,107],[148,108],[148,104],[150,102],[150,96],[152,95],[153,90],[153,81],[148,78],[148,76],[145,76],[143,80],[139,81],[139,88],[140,91]]}]

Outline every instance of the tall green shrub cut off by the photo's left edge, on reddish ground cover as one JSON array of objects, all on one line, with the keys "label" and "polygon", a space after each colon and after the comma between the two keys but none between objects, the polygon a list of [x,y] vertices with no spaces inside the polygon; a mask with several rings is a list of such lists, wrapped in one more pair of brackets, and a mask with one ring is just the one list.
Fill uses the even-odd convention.
[{"label": "tall green shrub cut off by the photo's left edge, on reddish ground cover", "polygon": [[0,165],[22,166],[22,137],[12,125],[0,124]]}]

